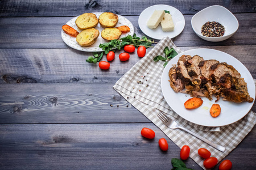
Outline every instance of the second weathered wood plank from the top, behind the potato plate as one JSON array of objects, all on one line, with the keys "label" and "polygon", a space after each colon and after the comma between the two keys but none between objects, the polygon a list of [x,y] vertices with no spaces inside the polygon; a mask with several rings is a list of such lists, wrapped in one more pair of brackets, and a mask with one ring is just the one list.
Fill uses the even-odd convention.
[{"label": "second weathered wood plank from the top, behind the potato plate", "polygon": [[[183,32],[174,38],[177,46],[212,46],[212,45],[256,45],[256,13],[235,14],[240,28],[228,40],[209,42],[198,37],[191,26],[192,15],[185,16]],[[137,36],[144,36],[138,25],[138,16],[126,16],[133,23]],[[71,17],[51,18],[1,18],[0,48],[70,48],[61,39],[61,26]]]}]

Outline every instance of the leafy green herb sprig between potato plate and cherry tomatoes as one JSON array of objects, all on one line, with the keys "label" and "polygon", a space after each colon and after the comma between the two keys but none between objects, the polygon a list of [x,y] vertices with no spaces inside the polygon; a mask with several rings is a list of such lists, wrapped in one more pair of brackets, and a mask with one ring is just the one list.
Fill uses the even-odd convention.
[{"label": "leafy green herb sprig between potato plate and cherry tomatoes", "polygon": [[108,54],[113,48],[117,48],[118,50],[123,48],[125,45],[134,45],[134,46],[145,46],[153,47],[151,46],[152,43],[157,43],[154,40],[147,39],[146,36],[143,37],[137,37],[137,35],[134,33],[133,36],[129,35],[126,37],[122,37],[120,40],[111,40],[109,42],[105,42],[103,44],[100,44],[99,47],[104,50],[105,54]]}]

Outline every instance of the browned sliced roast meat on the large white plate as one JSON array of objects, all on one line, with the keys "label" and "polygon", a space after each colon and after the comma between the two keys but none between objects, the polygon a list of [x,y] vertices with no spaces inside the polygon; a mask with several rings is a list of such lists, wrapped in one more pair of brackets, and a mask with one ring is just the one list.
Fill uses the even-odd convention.
[{"label": "browned sliced roast meat on the large white plate", "polygon": [[[204,60],[200,56],[183,55],[177,66],[169,71],[170,86],[175,92],[183,92],[192,97],[207,97],[212,100],[220,96],[223,100],[241,103],[252,102],[247,84],[233,66],[215,59]],[[216,101],[217,101],[216,100]]]}]

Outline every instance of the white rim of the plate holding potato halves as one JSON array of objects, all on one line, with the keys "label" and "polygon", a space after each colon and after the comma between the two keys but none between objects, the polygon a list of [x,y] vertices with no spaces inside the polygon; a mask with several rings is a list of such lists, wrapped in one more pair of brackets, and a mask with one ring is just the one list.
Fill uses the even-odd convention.
[{"label": "white rim of the plate holding potato halves", "polygon": [[[100,14],[102,14],[102,13],[104,13],[104,12],[90,12],[90,13],[93,13],[93,14],[96,14],[96,15],[100,15]],[[82,15],[82,14],[81,14],[81,15]],[[127,36],[128,36],[128,35],[133,36],[133,35],[134,35],[134,25],[133,25],[133,23],[131,23],[131,21],[130,21],[129,19],[127,19],[125,16],[122,16],[122,15],[119,15],[119,14],[117,14],[117,15],[118,15],[118,18],[125,18],[125,19],[129,22],[129,24],[131,24],[132,28],[130,28],[130,32],[127,33]],[[68,24],[69,22],[71,22],[71,20],[73,20],[73,19],[75,19],[75,18],[78,18],[79,16],[80,16],[80,15],[75,16],[75,17],[69,19],[68,22],[66,22],[65,24]],[[119,21],[119,19],[118,19],[118,21]],[[98,23],[98,24],[100,24],[100,23]],[[82,31],[82,30],[81,30],[81,31]],[[103,52],[103,51],[104,51],[104,50],[102,50],[102,49],[99,48],[99,47],[98,47],[96,50],[89,50],[88,48],[91,48],[92,46],[88,46],[88,47],[86,47],[86,46],[82,47],[82,46],[81,46],[82,49],[75,48],[74,46],[71,46],[70,44],[68,44],[68,43],[64,40],[64,37],[63,37],[64,35],[67,35],[67,34],[63,31],[63,29],[61,29],[61,39],[64,41],[64,43],[65,43],[66,45],[68,45],[69,47],[71,47],[71,48],[73,48],[73,49],[80,50],[81,52]],[[67,35],[67,36],[68,36],[68,35]],[[99,37],[100,37],[100,35],[99,35]],[[100,37],[100,38],[101,38],[101,37]],[[97,46],[95,46],[95,47],[97,47]],[[116,48],[113,48],[113,49],[116,49]]]}]

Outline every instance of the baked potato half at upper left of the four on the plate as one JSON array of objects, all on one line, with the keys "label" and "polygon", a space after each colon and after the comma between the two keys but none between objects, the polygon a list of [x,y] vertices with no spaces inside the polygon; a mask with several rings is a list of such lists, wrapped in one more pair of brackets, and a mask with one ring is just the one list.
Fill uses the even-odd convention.
[{"label": "baked potato half at upper left of the four on the plate", "polygon": [[79,29],[94,28],[98,25],[98,18],[93,13],[84,13],[77,17],[75,23]]}]

